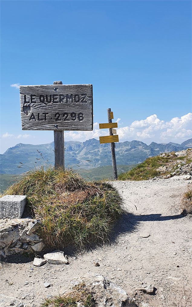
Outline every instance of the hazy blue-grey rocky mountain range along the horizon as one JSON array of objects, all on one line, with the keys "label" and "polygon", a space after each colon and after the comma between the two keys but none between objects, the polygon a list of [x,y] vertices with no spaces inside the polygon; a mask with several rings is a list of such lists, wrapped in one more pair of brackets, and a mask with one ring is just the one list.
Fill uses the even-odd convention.
[{"label": "hazy blue-grey rocky mountain range along the horizon", "polygon": [[[141,141],[116,143],[116,161],[118,165],[132,165],[143,162],[147,157],[162,152],[183,150],[192,147],[192,138],[177,143],[155,143],[147,145]],[[41,145],[19,143],[0,155],[1,174],[20,174],[39,164],[54,164],[54,142]],[[46,162],[48,160],[48,162]],[[21,163],[20,163],[21,162]],[[65,142],[65,165],[75,169],[92,169],[111,165],[110,144],[100,144],[95,138],[85,142]]]}]

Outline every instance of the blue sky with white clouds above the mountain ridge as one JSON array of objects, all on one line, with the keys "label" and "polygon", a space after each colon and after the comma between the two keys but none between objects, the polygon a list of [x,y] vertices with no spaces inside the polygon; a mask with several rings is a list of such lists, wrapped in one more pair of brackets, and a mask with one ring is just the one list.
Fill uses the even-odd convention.
[{"label": "blue sky with white clouds above the mountain ridge", "polygon": [[[53,141],[22,131],[17,84],[93,84],[93,132],[111,107],[120,141],[191,137],[190,1],[1,1],[1,152]],[[15,86],[10,86],[16,84]]]}]

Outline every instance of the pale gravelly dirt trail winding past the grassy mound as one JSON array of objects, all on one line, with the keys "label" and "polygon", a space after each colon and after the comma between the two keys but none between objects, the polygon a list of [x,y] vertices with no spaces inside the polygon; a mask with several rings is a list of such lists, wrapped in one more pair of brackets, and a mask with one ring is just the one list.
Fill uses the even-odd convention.
[{"label": "pale gravelly dirt trail winding past the grassy mound", "polygon": [[[139,306],[192,306],[192,220],[179,210],[181,194],[190,182],[182,176],[114,182],[129,212],[116,228],[115,244],[69,257],[69,265],[34,267],[29,258],[25,263],[23,257],[15,258],[0,271],[0,293],[39,306],[43,296],[63,294],[74,277],[97,273],[135,296]],[[44,282],[51,286],[45,288]],[[135,291],[148,284],[154,284],[155,295]]]}]

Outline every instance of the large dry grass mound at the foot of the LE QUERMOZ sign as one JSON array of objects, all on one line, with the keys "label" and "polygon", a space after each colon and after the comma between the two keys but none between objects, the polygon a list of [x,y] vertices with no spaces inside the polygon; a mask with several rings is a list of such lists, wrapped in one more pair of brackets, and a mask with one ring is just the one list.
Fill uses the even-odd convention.
[{"label": "large dry grass mound at the foot of the LE QUERMOZ sign", "polygon": [[5,194],[26,195],[41,220],[39,234],[49,248],[84,248],[108,240],[123,201],[112,185],[87,182],[72,169],[31,170]]}]

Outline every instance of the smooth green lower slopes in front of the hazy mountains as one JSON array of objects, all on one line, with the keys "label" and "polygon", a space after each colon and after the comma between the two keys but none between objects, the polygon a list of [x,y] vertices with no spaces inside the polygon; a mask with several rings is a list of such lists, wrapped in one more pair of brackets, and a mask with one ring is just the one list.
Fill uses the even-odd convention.
[{"label": "smooth green lower slopes in front of the hazy mountains", "polygon": [[[127,172],[131,168],[135,167],[135,165],[117,165],[118,174]],[[75,169],[75,172],[78,172],[84,179],[86,180],[100,180],[103,178],[112,179],[113,170],[112,165],[100,166],[93,169]],[[21,175],[20,175],[21,176]],[[9,185],[13,184],[15,180],[19,178],[19,175],[12,174],[1,174],[0,175],[0,192],[8,188]]]}]

